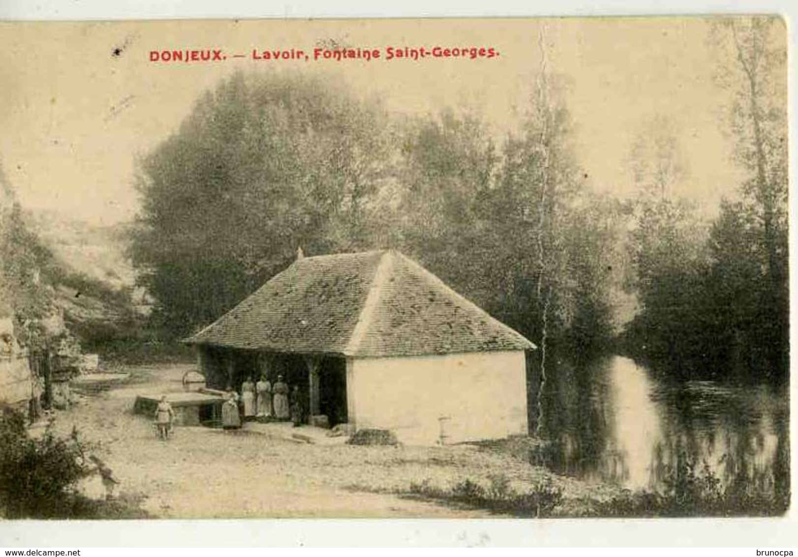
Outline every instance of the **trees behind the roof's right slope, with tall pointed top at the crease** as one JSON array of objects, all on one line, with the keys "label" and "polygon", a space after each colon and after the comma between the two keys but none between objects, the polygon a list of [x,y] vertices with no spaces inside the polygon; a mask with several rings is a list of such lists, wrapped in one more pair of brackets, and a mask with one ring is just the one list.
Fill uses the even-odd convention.
[{"label": "trees behind the roof's right slope, with tall pointed top at the crease", "polygon": [[500,148],[477,115],[446,111],[409,125],[397,172],[400,245],[538,343],[544,365],[584,301],[563,234],[582,189],[564,98],[544,60],[519,132]]}]

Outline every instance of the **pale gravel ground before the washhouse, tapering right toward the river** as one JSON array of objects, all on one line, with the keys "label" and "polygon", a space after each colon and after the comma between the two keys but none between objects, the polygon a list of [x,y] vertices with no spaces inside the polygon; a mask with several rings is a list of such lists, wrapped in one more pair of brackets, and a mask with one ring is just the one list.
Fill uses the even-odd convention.
[{"label": "pale gravel ground before the washhouse, tapering right toward the river", "polygon": [[[191,367],[129,367],[124,383],[57,413],[57,432],[66,435],[74,427],[97,443],[120,481],[120,497],[141,501],[152,517],[485,517],[508,512],[435,500],[418,486],[440,493],[468,483],[518,493],[547,486],[559,493],[563,510],[620,492],[557,476],[491,445],[329,446],[298,444],[278,429],[225,433],[202,427],[176,428],[171,440],[157,440],[152,422],[132,413],[133,401],[140,393],[179,391],[180,377]],[[96,476],[81,489],[93,497],[104,494]]]}]

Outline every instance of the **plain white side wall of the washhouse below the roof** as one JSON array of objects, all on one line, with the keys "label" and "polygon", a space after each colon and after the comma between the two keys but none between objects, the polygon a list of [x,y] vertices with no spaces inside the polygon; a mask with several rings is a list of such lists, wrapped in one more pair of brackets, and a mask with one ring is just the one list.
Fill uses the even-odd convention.
[{"label": "plain white side wall of the washhouse below the roof", "polygon": [[391,429],[405,444],[435,444],[440,417],[448,441],[527,433],[523,350],[411,358],[349,358],[349,421]]}]

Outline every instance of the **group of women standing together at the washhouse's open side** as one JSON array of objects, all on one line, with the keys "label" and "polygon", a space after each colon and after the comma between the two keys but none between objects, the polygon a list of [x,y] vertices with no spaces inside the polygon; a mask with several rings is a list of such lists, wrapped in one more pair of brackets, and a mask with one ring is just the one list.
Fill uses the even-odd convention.
[{"label": "group of women standing together at the washhouse's open side", "polygon": [[[286,421],[291,417],[288,402],[288,384],[282,380],[282,375],[272,385],[266,374],[263,374],[257,383],[250,377],[241,385],[241,396],[230,387],[227,388],[227,400],[222,405],[222,427],[224,429],[238,429],[241,421],[271,420]],[[294,386],[295,397],[298,399],[298,388]],[[240,408],[239,408],[240,400]]]}]

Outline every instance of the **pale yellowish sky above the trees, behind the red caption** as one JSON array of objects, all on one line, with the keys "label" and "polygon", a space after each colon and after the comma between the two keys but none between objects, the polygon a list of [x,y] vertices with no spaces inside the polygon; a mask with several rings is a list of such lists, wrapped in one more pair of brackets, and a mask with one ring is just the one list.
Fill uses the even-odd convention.
[{"label": "pale yellowish sky above the trees, behind the red caption", "polygon": [[[24,207],[93,224],[132,219],[136,158],[175,132],[207,89],[237,69],[339,74],[395,113],[476,110],[496,137],[517,125],[540,68],[563,77],[575,153],[598,192],[628,196],[631,144],[655,117],[678,132],[678,195],[713,213],[739,183],[703,18],[0,23],[0,162]],[[494,47],[491,59],[259,61],[252,49],[336,41]],[[223,49],[208,63],[149,61],[152,50]],[[243,53],[243,58],[232,54]]]}]

